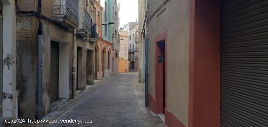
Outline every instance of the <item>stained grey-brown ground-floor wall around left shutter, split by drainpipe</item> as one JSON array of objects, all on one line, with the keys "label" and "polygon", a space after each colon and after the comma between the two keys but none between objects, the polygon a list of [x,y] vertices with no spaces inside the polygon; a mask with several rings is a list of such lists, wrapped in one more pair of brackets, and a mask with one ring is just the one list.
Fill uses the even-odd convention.
[{"label": "stained grey-brown ground-floor wall around left shutter, split by drainpipe", "polygon": [[[51,41],[69,44],[69,97],[72,88],[72,42],[73,34],[57,25],[43,21],[43,114],[50,106],[50,43]],[[19,117],[34,118],[37,113],[37,28],[38,19],[34,16],[17,17],[17,89],[19,90]],[[35,100],[35,103],[33,103]]]}]

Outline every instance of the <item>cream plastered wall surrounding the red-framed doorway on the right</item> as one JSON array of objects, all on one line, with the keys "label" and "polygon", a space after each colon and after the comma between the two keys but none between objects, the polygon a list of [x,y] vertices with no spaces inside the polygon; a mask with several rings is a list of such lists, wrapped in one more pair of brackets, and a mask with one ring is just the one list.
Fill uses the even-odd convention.
[{"label": "cream plastered wall surrounding the red-framed doorway on the right", "polygon": [[[162,3],[150,1],[150,15]],[[167,31],[167,102],[171,113],[188,127],[189,2],[169,0],[155,13],[149,30],[149,93],[154,96],[155,35]]]}]

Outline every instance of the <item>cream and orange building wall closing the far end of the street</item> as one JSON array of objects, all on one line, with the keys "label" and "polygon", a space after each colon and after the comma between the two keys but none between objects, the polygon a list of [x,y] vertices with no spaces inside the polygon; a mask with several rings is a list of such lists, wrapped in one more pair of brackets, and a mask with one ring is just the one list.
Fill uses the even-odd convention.
[{"label": "cream and orange building wall closing the far end of the street", "polygon": [[[123,29],[122,29],[123,30]],[[119,73],[129,72],[129,32],[120,30],[120,52],[118,60]]]}]

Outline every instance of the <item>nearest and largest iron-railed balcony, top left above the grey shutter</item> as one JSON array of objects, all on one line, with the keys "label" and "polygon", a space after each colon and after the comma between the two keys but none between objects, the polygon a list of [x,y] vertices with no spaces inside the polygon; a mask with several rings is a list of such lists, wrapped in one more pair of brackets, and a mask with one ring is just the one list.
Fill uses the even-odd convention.
[{"label": "nearest and largest iron-railed balcony, top left above the grey shutter", "polygon": [[65,28],[78,28],[78,0],[54,0],[53,17]]}]

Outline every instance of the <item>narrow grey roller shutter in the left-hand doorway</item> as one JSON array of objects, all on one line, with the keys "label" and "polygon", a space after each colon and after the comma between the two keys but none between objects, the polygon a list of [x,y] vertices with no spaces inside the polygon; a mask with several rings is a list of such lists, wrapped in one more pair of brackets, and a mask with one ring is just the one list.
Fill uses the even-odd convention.
[{"label": "narrow grey roller shutter in the left-hand doorway", "polygon": [[58,43],[51,42],[50,54],[50,102],[58,98]]}]

